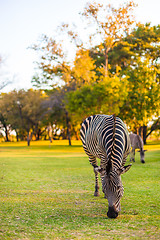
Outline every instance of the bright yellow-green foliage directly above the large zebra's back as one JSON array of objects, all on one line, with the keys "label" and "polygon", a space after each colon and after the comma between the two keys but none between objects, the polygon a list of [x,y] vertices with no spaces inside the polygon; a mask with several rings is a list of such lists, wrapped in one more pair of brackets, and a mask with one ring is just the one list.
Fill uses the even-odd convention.
[{"label": "bright yellow-green foliage directly above the large zebra's back", "polygon": [[97,113],[119,114],[119,108],[126,97],[126,78],[120,78],[117,74],[69,92],[68,109],[79,121]]}]

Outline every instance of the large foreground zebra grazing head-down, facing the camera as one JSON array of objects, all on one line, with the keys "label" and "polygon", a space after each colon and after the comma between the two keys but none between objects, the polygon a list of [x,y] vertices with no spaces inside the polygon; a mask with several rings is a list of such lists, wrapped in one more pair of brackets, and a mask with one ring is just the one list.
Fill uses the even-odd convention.
[{"label": "large foreground zebra grazing head-down, facing the camera", "polygon": [[[102,190],[108,199],[109,218],[116,218],[120,211],[120,198],[123,196],[121,174],[127,172],[131,164],[124,166],[130,152],[128,131],[122,120],[115,115],[94,115],[82,123],[81,140],[95,173],[94,196],[99,196],[98,172]],[[101,159],[100,166],[97,158]]]}]

